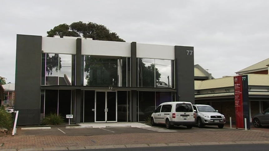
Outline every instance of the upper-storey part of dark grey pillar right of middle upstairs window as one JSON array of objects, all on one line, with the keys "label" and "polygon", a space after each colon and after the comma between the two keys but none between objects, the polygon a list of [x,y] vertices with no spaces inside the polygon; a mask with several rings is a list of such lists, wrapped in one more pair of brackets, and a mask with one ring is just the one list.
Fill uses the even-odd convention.
[{"label": "upper-storey part of dark grey pillar right of middle upstairs window", "polygon": [[137,87],[136,42],[131,43],[131,87]]}]

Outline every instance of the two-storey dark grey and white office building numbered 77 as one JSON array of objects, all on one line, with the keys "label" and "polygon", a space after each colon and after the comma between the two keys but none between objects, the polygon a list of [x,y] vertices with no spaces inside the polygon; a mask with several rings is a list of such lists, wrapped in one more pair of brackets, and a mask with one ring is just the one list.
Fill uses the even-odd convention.
[{"label": "two-storey dark grey and white office building numbered 77", "polygon": [[[18,125],[136,122],[166,101],[194,103],[193,47],[17,35]],[[66,122],[68,120],[66,119]]]}]

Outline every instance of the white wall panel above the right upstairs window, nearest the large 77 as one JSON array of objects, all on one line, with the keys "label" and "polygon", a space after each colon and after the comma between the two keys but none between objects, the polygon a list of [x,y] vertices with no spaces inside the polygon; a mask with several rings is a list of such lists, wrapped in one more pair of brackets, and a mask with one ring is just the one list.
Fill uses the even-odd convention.
[{"label": "white wall panel above the right upstairs window, nearest the large 77", "polygon": [[175,59],[174,46],[136,43],[136,57],[154,59]]}]

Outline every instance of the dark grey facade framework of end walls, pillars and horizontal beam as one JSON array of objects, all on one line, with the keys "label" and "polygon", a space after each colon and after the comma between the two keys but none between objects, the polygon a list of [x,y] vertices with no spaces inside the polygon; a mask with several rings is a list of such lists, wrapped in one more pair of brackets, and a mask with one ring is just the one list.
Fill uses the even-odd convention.
[{"label": "dark grey facade framework of end walls, pillars and horizontal beam", "polygon": [[[17,35],[16,56],[16,101],[15,110],[19,110],[18,125],[40,124],[41,90],[72,90],[73,122],[81,122],[81,106],[84,90],[107,90],[108,87],[83,86],[84,57],[81,54],[81,38],[76,39],[76,55],[72,55],[71,86],[41,84],[42,71],[42,36]],[[194,57],[193,47],[175,46],[175,60],[172,61],[172,88],[137,87],[136,42],[131,43],[130,84],[128,87],[113,87],[113,90],[131,92],[131,121],[137,121],[137,100],[139,91],[176,92],[176,101],[194,103]],[[29,59],[31,58],[31,59]],[[42,73],[43,74],[43,73]]]}]

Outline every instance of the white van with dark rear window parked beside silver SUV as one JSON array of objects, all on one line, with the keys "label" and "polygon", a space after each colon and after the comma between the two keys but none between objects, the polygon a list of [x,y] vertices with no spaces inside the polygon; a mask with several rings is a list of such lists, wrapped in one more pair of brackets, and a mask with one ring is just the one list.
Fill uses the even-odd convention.
[{"label": "white van with dark rear window parked beside silver SUV", "polygon": [[166,128],[184,125],[191,129],[195,125],[195,112],[191,102],[164,102],[151,114],[151,125],[165,124]]}]

